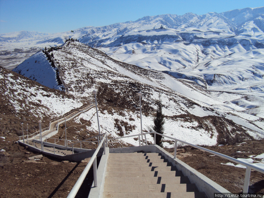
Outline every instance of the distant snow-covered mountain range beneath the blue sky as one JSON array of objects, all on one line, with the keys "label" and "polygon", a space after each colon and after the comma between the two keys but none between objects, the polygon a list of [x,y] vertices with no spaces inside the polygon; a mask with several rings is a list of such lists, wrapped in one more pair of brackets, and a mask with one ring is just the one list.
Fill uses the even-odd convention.
[{"label": "distant snow-covered mountain range beneath the blue sky", "polygon": [[146,16],[64,33],[0,35],[1,65],[12,69],[69,37],[112,58],[163,71],[216,91],[263,93],[264,7],[224,13]]}]

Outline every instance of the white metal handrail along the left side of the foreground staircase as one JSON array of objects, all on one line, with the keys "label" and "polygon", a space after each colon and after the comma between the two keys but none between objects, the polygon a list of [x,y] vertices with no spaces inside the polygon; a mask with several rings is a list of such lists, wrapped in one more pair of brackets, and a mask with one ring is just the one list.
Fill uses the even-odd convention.
[{"label": "white metal handrail along the left side of the foreground staircase", "polygon": [[[75,195],[77,194],[79,188],[81,187],[88,171],[90,170],[92,164],[93,168],[94,168],[94,186],[97,187],[97,165],[96,165],[96,156],[101,148],[101,146],[104,143],[104,154],[105,154],[105,141],[106,141],[106,137],[107,137],[107,132],[105,133],[104,137],[101,140],[101,143],[98,145],[97,149],[95,150],[92,158],[90,159],[89,163],[86,165],[86,167],[84,168],[82,174],[80,175],[79,179],[77,180],[77,182],[75,183],[75,185],[73,186],[71,192],[69,193],[69,195],[67,196],[67,198],[72,198],[75,197]],[[96,170],[96,171],[95,171]]]}]

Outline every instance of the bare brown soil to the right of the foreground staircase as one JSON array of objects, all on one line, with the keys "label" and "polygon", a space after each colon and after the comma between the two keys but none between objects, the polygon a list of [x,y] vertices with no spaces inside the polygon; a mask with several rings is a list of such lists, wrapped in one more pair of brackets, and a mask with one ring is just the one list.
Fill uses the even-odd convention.
[{"label": "bare brown soil to the right of the foreground staircase", "polygon": [[[250,158],[250,155],[260,155],[264,153],[264,140],[250,140],[246,143],[224,146],[203,146],[204,148],[228,155],[233,158]],[[174,148],[166,149],[174,155]],[[237,151],[241,151],[237,153]],[[212,154],[185,146],[177,149],[177,158],[199,171],[209,179],[221,185],[229,192],[239,193],[243,191],[246,169],[222,165],[229,160],[212,156]],[[252,158],[256,161],[259,159]],[[232,162],[231,162],[232,163]],[[236,163],[233,163],[236,165]],[[264,174],[251,170],[248,192],[259,192],[264,195]]]}]

